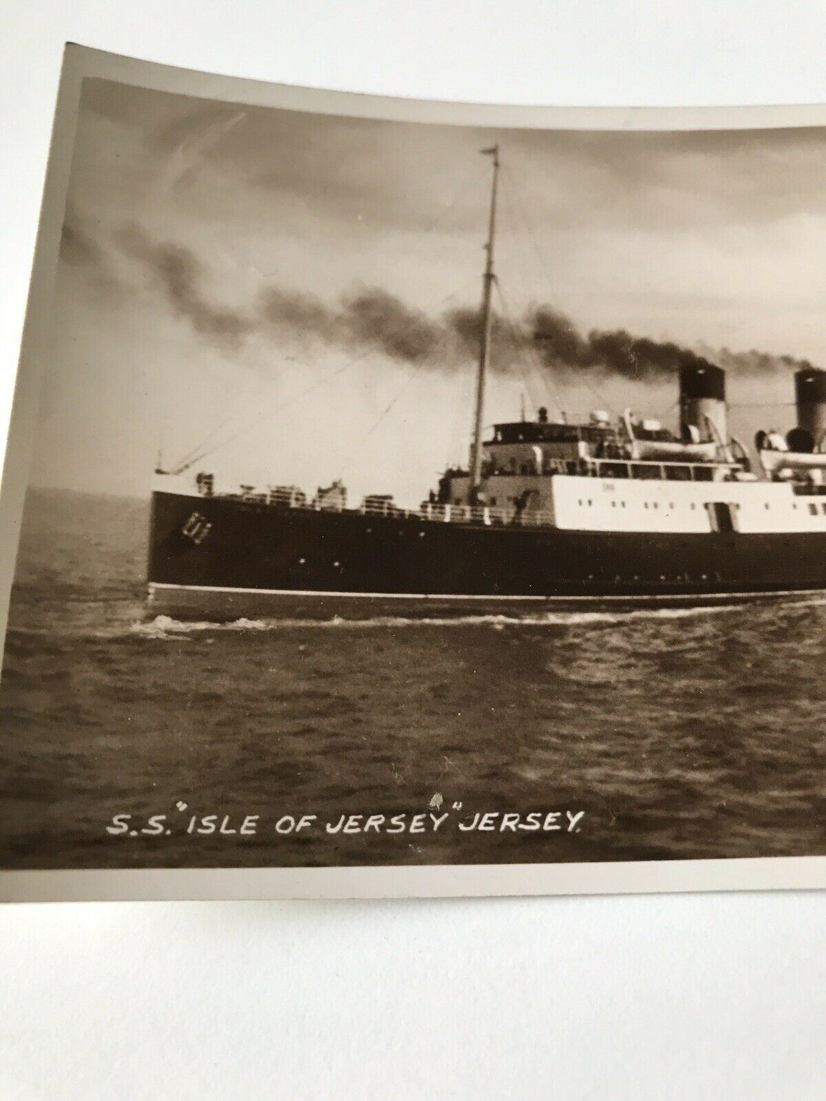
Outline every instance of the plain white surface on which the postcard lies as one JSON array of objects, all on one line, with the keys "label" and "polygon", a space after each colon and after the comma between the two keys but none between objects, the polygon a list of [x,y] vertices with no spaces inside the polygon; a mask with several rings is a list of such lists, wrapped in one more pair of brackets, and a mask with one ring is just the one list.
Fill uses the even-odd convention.
[{"label": "plain white surface on which the postcard lies", "polygon": [[[826,99],[820,2],[4,9],[3,423],[67,39],[395,95]],[[823,893],[6,907],[0,1098],[822,1099],[825,919]]]}]

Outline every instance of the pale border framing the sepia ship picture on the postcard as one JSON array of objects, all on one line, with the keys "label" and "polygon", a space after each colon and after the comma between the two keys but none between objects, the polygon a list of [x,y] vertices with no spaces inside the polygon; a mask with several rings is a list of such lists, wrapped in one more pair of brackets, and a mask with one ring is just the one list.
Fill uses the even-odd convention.
[{"label": "pale border framing the sepia ship picture on the postcard", "polygon": [[[518,107],[450,103],[267,84],[68,44],[64,54],[0,492],[0,644],[4,641],[61,230],[85,77],[226,102],[405,122],[557,130],[732,130],[826,126],[826,105],[791,107]],[[826,857],[438,864],[380,868],[0,871],[0,902],[404,898],[813,890]]]}]

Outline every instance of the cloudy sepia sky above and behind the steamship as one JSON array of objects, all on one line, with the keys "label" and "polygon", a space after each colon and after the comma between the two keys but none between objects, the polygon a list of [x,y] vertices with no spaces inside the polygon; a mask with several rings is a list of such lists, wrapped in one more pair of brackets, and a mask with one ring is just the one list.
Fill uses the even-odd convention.
[{"label": "cloudy sepia sky above and behind the steamship", "polygon": [[[143,495],[160,442],[172,464],[206,438],[220,479],[421,500],[466,459],[472,360],[365,326],[398,305],[430,338],[478,304],[493,142],[512,318],[550,304],[584,333],[826,364],[823,130],[494,132],[86,80],[33,480]],[[486,419],[522,394],[667,413],[676,391],[526,353]],[[789,402],[791,370],[737,371],[729,397]],[[748,435],[790,418],[732,413]]]}]

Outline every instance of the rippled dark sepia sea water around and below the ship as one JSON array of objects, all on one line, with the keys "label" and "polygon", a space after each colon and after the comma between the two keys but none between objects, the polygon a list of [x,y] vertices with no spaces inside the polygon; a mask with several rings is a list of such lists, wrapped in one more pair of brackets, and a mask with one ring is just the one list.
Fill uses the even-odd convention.
[{"label": "rippled dark sepia sea water around and below the ship", "polygon": [[[148,519],[142,501],[29,493],[0,683],[3,866],[826,852],[826,599],[184,623],[145,611]],[[436,830],[362,828],[445,813]],[[115,835],[124,814],[171,828]],[[301,816],[312,828],[275,829]],[[327,831],[343,816],[362,827]],[[205,817],[226,830],[186,831]]]}]

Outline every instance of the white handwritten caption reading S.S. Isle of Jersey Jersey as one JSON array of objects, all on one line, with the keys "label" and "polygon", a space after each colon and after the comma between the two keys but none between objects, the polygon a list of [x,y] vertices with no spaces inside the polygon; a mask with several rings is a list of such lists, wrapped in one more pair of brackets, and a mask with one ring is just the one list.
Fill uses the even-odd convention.
[{"label": "white handwritten caption reading S.S. Isle of Jersey Jersey", "polygon": [[[183,815],[188,807],[185,803],[177,803],[175,809]],[[427,810],[398,815],[339,815],[328,820],[319,819],[318,815],[281,815],[270,824],[270,828],[282,837],[322,831],[343,835],[438,833],[447,832],[454,825],[461,833],[552,833],[563,830],[578,833],[585,817],[584,810],[532,810],[528,814],[487,810],[459,815],[460,810],[461,804],[454,803],[452,810],[441,814]],[[176,819],[174,815],[162,814],[141,819],[135,815],[119,814],[112,816],[106,831],[112,837],[170,837],[173,833],[256,837],[265,828],[261,824],[261,815],[189,814],[186,818]]]}]

